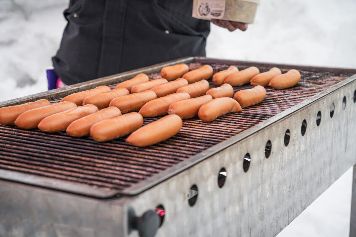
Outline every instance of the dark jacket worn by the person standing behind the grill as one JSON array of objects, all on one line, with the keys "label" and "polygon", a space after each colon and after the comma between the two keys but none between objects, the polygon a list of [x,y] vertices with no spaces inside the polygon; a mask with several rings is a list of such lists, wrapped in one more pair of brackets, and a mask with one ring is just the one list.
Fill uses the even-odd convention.
[{"label": "dark jacket worn by the person standing behind the grill", "polygon": [[193,0],[71,0],[52,58],[67,85],[184,56],[205,56],[210,22]]}]

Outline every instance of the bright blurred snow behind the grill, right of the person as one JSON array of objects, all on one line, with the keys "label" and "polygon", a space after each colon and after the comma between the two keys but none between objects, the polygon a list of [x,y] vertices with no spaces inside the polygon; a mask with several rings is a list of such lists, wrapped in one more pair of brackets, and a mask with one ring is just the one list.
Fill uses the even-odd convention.
[{"label": "bright blurred snow behind the grill, right of the person", "polygon": [[210,58],[356,68],[356,1],[261,1],[245,32],[214,27]]}]

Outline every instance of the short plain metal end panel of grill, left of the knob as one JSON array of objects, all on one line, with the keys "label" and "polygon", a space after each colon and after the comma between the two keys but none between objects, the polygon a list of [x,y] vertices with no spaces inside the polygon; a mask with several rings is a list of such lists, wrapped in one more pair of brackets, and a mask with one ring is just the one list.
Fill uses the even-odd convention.
[{"label": "short plain metal end panel of grill, left of the knob", "polygon": [[127,212],[100,200],[0,180],[0,236],[125,236]]}]

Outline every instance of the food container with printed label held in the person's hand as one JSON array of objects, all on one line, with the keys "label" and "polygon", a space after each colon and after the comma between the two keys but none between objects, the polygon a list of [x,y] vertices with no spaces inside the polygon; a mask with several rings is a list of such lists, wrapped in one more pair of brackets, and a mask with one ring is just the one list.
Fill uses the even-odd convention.
[{"label": "food container with printed label held in the person's hand", "polygon": [[193,0],[192,16],[251,24],[255,21],[259,4],[259,0]]}]

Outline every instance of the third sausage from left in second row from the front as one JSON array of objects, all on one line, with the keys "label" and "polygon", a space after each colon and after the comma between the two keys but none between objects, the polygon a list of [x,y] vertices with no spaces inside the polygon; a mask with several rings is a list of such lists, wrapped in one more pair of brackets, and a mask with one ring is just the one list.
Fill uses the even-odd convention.
[{"label": "third sausage from left in second row from the front", "polygon": [[155,92],[146,90],[133,93],[126,96],[120,96],[113,99],[109,106],[115,106],[120,109],[121,113],[138,111],[141,107],[152,99],[156,99]]}]

